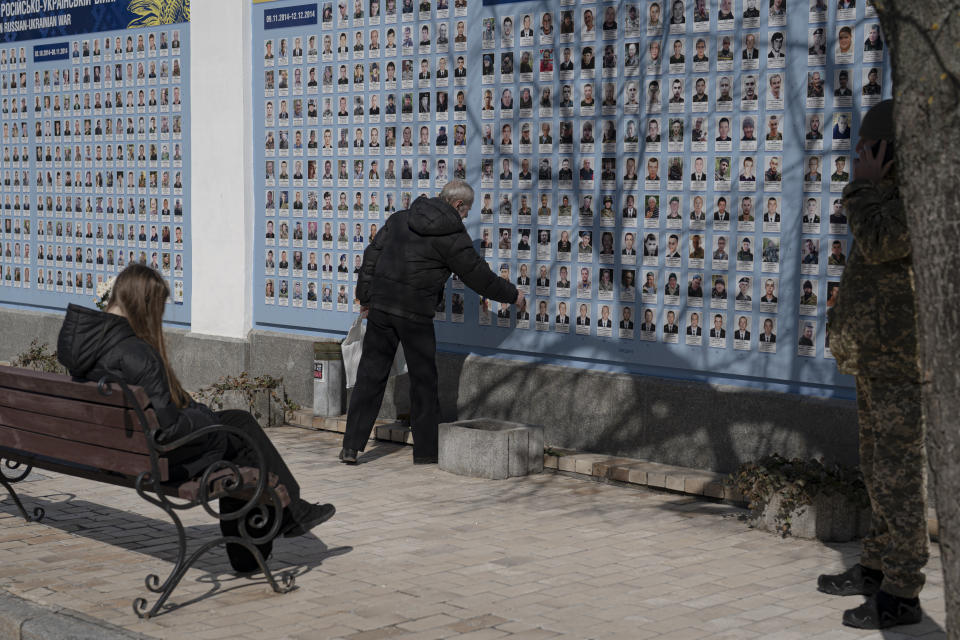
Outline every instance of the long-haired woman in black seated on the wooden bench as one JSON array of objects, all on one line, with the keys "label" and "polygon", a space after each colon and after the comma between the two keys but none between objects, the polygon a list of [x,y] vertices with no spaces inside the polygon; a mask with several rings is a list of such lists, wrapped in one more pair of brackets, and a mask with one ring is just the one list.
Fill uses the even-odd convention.
[{"label": "long-haired woman in black seated on the wooden bench", "polygon": [[[142,387],[157,415],[157,442],[167,444],[210,425],[227,425],[242,430],[263,452],[264,463],[286,487],[290,505],[284,509],[279,533],[285,537],[306,534],[334,514],[332,504],[310,504],[300,497],[300,486],[270,439],[246,411],[213,412],[195,402],[184,391],[170,367],[163,338],[163,311],[170,289],[155,270],[131,264],[116,279],[108,294],[106,312],[71,304],[60,329],[57,353],[60,362],[75,378],[97,381],[107,374],[129,385]],[[212,463],[228,460],[238,466],[256,466],[257,455],[248,441],[219,432],[172,451],[168,460],[171,479],[184,481],[200,476]],[[220,499],[223,514],[238,511],[244,500]],[[248,527],[259,537],[273,526],[272,518],[259,529]],[[238,520],[221,520],[225,536],[237,536]],[[273,541],[258,545],[266,559]],[[228,544],[231,566],[241,572],[258,564],[239,544]]]}]

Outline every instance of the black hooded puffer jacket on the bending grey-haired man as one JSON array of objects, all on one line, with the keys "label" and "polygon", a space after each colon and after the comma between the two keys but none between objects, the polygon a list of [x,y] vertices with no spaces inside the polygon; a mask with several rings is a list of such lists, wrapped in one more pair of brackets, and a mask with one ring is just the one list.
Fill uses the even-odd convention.
[{"label": "black hooded puffer jacket on the bending grey-haired man", "polygon": [[456,209],[420,196],[409,209],[390,216],[364,251],[357,299],[372,309],[432,322],[451,271],[485,298],[517,300],[517,288],[474,251]]}]

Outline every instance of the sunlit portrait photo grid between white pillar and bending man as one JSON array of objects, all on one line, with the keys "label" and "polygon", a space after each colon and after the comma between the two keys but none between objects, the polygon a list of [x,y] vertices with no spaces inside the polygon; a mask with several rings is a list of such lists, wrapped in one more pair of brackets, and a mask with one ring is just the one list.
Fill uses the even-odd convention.
[{"label": "sunlit portrait photo grid between white pillar and bending man", "polygon": [[267,305],[351,311],[384,219],[466,177],[467,4],[320,8],[317,24],[266,29],[259,43],[262,293]]}]

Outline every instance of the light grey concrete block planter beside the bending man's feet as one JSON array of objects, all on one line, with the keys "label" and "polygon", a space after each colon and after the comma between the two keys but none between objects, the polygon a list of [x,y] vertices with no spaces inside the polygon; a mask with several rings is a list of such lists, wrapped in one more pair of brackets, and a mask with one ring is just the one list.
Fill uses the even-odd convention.
[{"label": "light grey concrete block planter beside the bending man's feet", "polygon": [[502,480],[543,471],[543,427],[502,420],[440,425],[440,468],[474,478]]}]

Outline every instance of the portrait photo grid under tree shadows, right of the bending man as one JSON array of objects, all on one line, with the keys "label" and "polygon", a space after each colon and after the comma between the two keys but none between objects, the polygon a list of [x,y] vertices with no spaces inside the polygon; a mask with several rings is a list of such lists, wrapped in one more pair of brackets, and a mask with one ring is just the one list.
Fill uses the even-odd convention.
[{"label": "portrait photo grid under tree shadows, right of the bending man", "polygon": [[[806,131],[790,140],[786,5],[734,4],[483,18],[481,246],[533,307],[501,305],[498,326],[775,353],[778,318],[798,308],[780,301],[782,232],[800,218],[800,250],[783,254],[802,261],[797,353],[816,355],[847,251],[850,128],[880,99],[882,37],[858,29],[853,3],[794,9],[809,55]],[[804,151],[800,202],[784,201],[785,144]],[[492,322],[489,305],[479,314]]]}]

